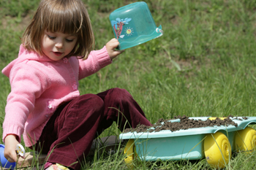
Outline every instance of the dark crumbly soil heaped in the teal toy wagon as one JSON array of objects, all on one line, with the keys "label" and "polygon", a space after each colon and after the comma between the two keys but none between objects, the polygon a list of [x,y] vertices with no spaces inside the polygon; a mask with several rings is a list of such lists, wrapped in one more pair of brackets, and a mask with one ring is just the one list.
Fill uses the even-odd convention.
[{"label": "dark crumbly soil heaped in the teal toy wagon", "polygon": [[[237,127],[237,123],[233,122],[233,120],[230,119],[230,117],[233,117],[232,115],[229,115],[224,120],[219,119],[218,117],[215,120],[194,120],[189,119],[187,116],[176,116],[174,119],[180,119],[180,122],[173,122],[171,123],[170,120],[174,119],[159,119],[157,123],[155,123],[152,126],[146,126],[146,125],[138,125],[136,128],[127,128],[124,130],[124,134],[128,132],[157,132],[162,130],[170,130],[170,131],[178,131],[181,129],[189,129],[189,128],[202,128],[207,126],[220,126],[220,125],[235,125]],[[248,119],[247,117],[242,117],[244,120]],[[241,120],[241,118],[235,117],[235,119]],[[163,124],[162,124],[163,123]]]}]

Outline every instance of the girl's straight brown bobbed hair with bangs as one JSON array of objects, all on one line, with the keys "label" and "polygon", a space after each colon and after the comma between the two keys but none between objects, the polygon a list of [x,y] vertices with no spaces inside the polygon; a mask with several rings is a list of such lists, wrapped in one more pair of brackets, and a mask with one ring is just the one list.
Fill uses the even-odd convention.
[{"label": "girl's straight brown bobbed hair with bangs", "polygon": [[45,30],[78,35],[78,41],[67,57],[87,58],[94,46],[91,20],[80,0],[42,0],[23,34],[23,46],[42,55],[41,39]]}]

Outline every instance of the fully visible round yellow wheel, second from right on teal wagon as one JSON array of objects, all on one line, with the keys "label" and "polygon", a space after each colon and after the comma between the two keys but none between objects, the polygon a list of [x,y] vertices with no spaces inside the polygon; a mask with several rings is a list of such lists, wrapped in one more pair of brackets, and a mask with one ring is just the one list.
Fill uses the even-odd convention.
[{"label": "fully visible round yellow wheel, second from right on teal wagon", "polygon": [[204,140],[204,151],[206,161],[210,166],[222,169],[230,161],[231,147],[225,134],[217,132],[216,134],[207,134]]}]

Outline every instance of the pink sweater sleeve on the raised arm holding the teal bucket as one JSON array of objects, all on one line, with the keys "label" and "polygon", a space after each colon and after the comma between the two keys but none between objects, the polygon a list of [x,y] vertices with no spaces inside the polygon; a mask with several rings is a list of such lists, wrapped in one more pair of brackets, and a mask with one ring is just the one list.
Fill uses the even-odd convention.
[{"label": "pink sweater sleeve on the raised arm holding the teal bucket", "polygon": [[112,60],[105,46],[101,50],[91,51],[86,60],[79,60],[79,80],[98,72],[110,63],[112,63]]}]

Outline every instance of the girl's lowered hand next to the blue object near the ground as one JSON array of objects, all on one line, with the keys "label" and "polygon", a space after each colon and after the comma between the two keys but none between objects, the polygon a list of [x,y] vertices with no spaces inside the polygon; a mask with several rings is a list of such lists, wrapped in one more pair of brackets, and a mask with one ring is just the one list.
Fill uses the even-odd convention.
[{"label": "girl's lowered hand next to the blue object near the ground", "polygon": [[7,158],[9,162],[16,162],[17,161],[17,153],[16,153],[16,146],[19,144],[16,136],[13,134],[9,134],[4,139],[4,157]]}]

